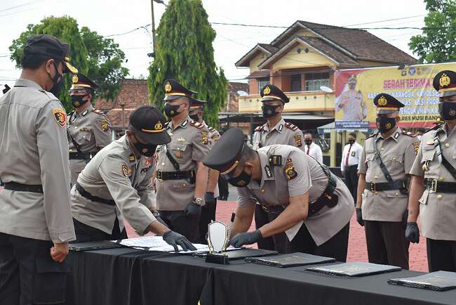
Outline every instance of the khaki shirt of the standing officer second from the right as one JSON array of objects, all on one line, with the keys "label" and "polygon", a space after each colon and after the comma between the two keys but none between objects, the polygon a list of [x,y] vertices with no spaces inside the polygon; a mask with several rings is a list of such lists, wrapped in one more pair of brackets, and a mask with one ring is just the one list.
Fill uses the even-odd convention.
[{"label": "khaki shirt of the standing officer second from the right", "polygon": [[[400,128],[396,129],[389,138],[382,134],[375,134],[366,138],[363,152],[358,165],[358,174],[366,174],[366,186],[373,183],[388,182],[380,165],[375,160],[376,143],[382,161],[387,167],[394,181],[405,180],[410,169],[420,141],[414,136],[403,134]],[[403,213],[407,208],[408,194],[400,190],[383,190],[372,192],[363,190],[362,211],[363,219],[368,221],[402,221]]]}]

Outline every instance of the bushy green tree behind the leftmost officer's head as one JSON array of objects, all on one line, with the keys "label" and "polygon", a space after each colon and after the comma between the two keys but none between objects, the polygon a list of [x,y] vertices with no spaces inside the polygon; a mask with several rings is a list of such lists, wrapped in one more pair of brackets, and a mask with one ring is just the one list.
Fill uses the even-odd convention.
[{"label": "bushy green tree behind the leftmost officer's head", "polygon": [[[128,69],[122,67],[125,54],[112,39],[92,32],[88,27],[79,30],[74,18],[48,17],[39,24],[27,25],[27,30],[13,40],[9,47],[11,60],[20,68],[20,58],[27,39],[36,34],[49,34],[62,39],[70,46],[70,61],[79,72],[85,74],[100,86],[98,96],[113,100],[119,94],[120,80],[128,75]],[[64,86],[58,98],[67,111],[72,109],[69,103],[68,89],[71,86],[72,75],[65,74]]]}]

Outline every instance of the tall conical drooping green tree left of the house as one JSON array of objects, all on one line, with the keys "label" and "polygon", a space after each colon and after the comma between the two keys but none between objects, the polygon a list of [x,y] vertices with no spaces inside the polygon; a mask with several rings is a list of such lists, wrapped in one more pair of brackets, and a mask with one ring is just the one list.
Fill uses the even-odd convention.
[{"label": "tall conical drooping green tree left of the house", "polygon": [[163,108],[163,82],[176,79],[206,100],[204,119],[218,125],[227,99],[227,79],[214,61],[215,31],[201,0],[170,0],[157,29],[155,59],[149,67],[149,100]]}]

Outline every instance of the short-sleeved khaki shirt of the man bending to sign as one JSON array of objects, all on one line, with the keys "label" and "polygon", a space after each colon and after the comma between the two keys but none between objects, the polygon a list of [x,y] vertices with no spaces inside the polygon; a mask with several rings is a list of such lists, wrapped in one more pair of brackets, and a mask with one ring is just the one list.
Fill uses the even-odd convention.
[{"label": "short-sleeved khaki shirt of the man bending to sign", "polygon": [[[238,188],[239,207],[255,205],[288,205],[289,198],[309,192],[309,201],[314,202],[323,194],[328,185],[328,176],[321,165],[312,157],[290,145],[271,145],[257,150],[262,168],[261,181],[252,180],[245,188]],[[271,166],[269,158],[281,157],[280,165]],[[296,175],[287,176],[285,169],[294,168]],[[323,207],[316,214],[309,216],[304,225],[309,230],[316,245],[322,245],[337,234],[347,223],[354,212],[353,197],[347,186],[337,178],[335,194],[339,201],[335,207]],[[286,233],[293,240],[302,221]]]}]

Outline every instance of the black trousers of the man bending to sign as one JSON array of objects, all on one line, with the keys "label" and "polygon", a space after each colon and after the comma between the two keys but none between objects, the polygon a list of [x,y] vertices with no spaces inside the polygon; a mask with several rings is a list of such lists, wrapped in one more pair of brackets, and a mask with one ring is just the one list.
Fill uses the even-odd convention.
[{"label": "black trousers of the man bending to sign", "polygon": [[317,246],[314,238],[311,237],[305,224],[302,224],[300,231],[295,238],[287,243],[287,253],[304,252],[307,254],[332,257],[337,261],[347,261],[349,247],[350,223],[347,223],[337,234],[322,245]]}]

